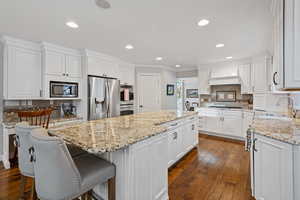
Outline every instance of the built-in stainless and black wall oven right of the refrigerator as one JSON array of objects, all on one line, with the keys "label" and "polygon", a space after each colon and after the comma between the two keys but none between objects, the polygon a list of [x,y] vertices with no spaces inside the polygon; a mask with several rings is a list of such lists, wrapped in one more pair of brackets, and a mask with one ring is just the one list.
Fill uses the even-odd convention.
[{"label": "built-in stainless and black wall oven right of the refrigerator", "polygon": [[131,85],[120,86],[120,115],[134,114],[134,92]]}]

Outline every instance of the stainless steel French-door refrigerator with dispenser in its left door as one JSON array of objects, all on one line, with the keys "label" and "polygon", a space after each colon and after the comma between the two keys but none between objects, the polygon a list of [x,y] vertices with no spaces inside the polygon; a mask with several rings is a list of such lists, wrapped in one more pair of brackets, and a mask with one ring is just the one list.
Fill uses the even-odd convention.
[{"label": "stainless steel French-door refrigerator with dispenser in its left door", "polygon": [[88,120],[120,115],[120,81],[88,76]]}]

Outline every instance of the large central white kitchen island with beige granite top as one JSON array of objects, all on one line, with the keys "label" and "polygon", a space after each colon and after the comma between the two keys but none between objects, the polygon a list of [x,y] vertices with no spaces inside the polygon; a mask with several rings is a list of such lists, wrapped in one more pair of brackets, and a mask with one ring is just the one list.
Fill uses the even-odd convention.
[{"label": "large central white kitchen island with beige granite top", "polygon": [[[116,199],[168,199],[168,167],[198,144],[197,112],[158,111],[49,130],[116,165]],[[107,199],[107,184],[95,192]]]}]

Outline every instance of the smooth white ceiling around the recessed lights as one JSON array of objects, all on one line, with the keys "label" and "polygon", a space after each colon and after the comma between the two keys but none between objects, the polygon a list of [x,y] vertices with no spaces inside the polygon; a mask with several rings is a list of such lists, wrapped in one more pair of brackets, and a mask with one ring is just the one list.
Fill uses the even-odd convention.
[{"label": "smooth white ceiling around the recessed lights", "polygon": [[[268,0],[0,0],[0,32],[88,48],[136,64],[182,68],[249,57],[270,48]],[[209,19],[206,27],[197,26]],[[79,29],[65,22],[73,20]],[[134,50],[125,50],[126,44]],[[216,48],[224,43],[224,48]],[[163,61],[155,61],[161,56]]]}]

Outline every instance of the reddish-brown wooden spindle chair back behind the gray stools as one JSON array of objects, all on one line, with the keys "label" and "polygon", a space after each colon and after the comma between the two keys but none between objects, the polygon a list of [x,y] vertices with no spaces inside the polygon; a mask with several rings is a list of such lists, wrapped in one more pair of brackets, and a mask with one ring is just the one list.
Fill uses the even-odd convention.
[{"label": "reddish-brown wooden spindle chair back behind the gray stools", "polygon": [[49,121],[53,109],[42,109],[32,111],[18,111],[20,122],[27,121],[31,126],[49,127]]}]

